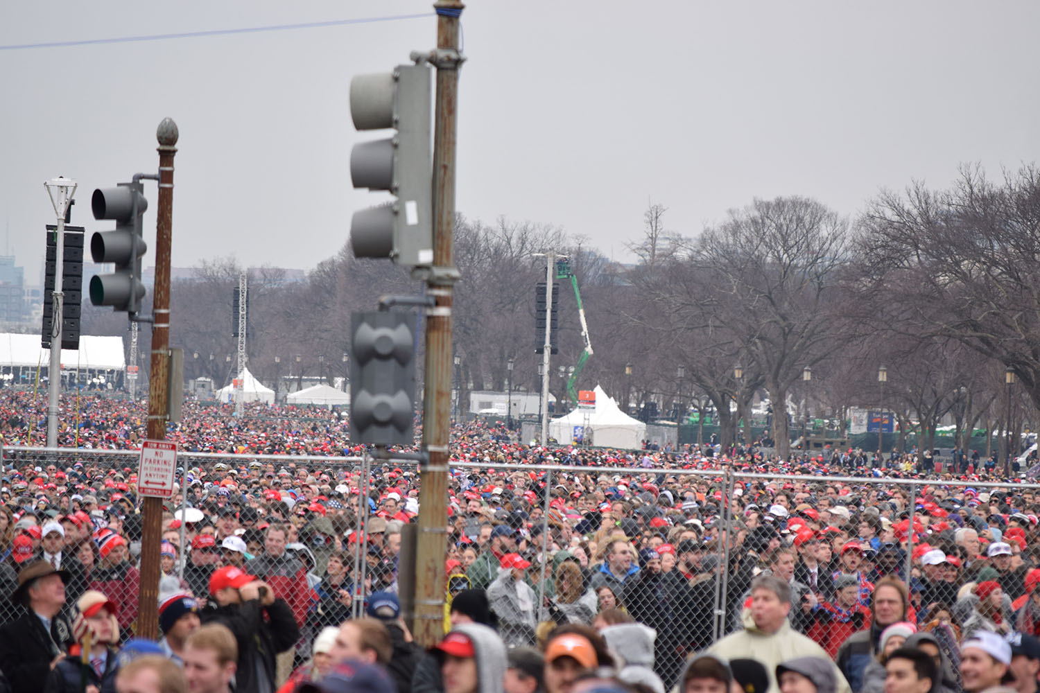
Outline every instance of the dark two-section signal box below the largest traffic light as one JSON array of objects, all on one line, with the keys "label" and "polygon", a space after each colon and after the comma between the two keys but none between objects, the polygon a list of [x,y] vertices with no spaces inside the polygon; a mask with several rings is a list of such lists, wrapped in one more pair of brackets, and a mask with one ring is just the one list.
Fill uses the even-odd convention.
[{"label": "dark two-section signal box below the largest traffic light", "polygon": [[355,313],[350,330],[350,439],[412,445],[415,420],[415,318]]}]

